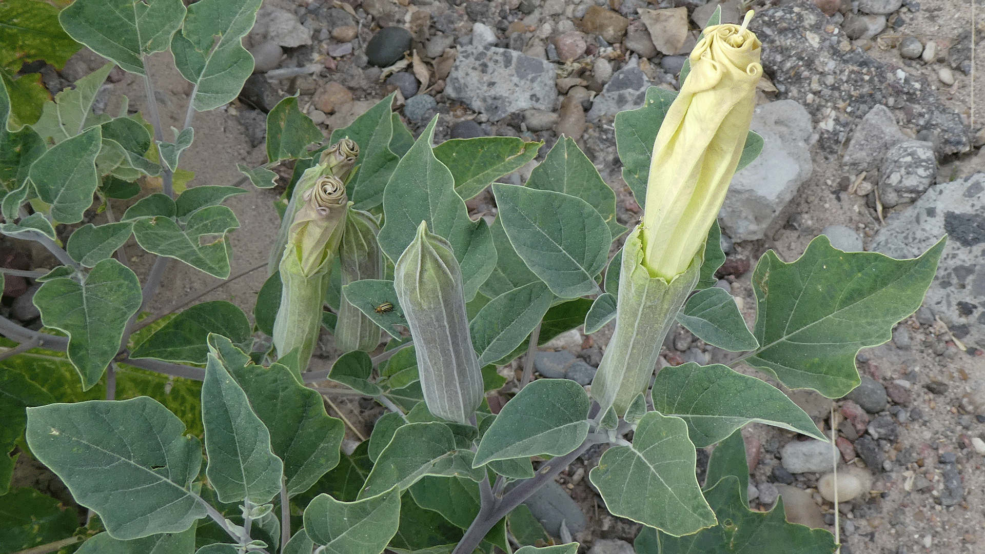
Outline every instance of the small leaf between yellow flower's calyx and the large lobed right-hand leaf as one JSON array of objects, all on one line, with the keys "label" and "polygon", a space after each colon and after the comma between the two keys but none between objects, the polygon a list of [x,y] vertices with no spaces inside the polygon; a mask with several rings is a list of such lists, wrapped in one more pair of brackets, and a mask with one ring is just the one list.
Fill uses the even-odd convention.
[{"label": "small leaf between yellow flower's calyx and the large lobed right-hand leaf", "polygon": [[718,287],[691,296],[684,309],[678,312],[677,320],[697,338],[729,352],[753,350],[759,346],[735,299]]}]

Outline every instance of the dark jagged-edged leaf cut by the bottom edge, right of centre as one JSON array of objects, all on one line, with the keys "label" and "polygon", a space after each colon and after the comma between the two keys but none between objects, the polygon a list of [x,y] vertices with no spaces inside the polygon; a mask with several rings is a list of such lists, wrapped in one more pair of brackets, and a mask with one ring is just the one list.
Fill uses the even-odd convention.
[{"label": "dark jagged-edged leaf cut by the bottom edge, right of centre", "polygon": [[633,543],[639,554],[831,554],[837,548],[826,529],[788,523],[779,500],[766,513],[753,512],[743,501],[739,479],[727,475],[705,491],[719,524],[688,536],[670,536],[643,527]]}]

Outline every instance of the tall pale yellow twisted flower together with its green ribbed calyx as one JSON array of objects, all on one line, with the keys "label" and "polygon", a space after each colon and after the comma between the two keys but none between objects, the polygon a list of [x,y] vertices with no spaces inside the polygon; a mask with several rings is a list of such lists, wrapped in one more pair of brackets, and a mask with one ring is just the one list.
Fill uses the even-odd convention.
[{"label": "tall pale yellow twisted flower together with its green ribbed calyx", "polygon": [[742,26],[705,28],[653,144],[645,212],[624,247],[616,331],[592,381],[592,396],[618,415],[653,377],[739,166],[762,74],[751,17]]}]

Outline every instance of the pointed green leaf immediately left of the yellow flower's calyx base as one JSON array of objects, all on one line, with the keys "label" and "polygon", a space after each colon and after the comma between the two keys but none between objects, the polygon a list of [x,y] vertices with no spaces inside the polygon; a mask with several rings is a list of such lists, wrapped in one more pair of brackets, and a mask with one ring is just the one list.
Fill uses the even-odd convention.
[{"label": "pointed green leaf immediately left of the yellow flower's calyx base", "polygon": [[539,379],[506,402],[483,435],[473,467],[494,459],[563,455],[588,436],[588,394],[565,379]]}]

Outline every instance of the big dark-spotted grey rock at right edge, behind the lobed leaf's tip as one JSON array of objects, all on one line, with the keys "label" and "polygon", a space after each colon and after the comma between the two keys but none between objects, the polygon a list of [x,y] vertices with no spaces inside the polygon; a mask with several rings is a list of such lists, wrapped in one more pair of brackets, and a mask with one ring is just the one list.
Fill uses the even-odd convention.
[{"label": "big dark-spotted grey rock at right edge, behind the lobed leaf's tip", "polygon": [[931,186],[893,214],[870,250],[911,258],[950,235],[924,305],[965,345],[985,348],[985,173]]}]

